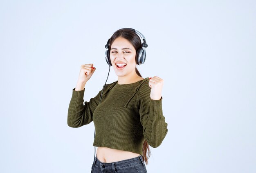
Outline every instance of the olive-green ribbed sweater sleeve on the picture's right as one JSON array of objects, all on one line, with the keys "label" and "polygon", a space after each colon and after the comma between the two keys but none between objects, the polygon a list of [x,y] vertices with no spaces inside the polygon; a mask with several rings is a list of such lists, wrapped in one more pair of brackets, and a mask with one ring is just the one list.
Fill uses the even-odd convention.
[{"label": "olive-green ribbed sweater sleeve on the picture's right", "polygon": [[160,100],[150,98],[151,88],[148,81],[139,89],[139,115],[143,126],[143,134],[148,144],[156,148],[162,144],[167,134],[167,123],[162,112],[162,96]]}]

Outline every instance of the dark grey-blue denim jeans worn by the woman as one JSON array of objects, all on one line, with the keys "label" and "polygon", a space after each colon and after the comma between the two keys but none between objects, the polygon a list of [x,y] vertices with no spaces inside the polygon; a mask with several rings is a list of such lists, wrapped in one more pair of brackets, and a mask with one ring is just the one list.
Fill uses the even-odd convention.
[{"label": "dark grey-blue denim jeans worn by the woman", "polygon": [[147,173],[147,170],[141,155],[112,163],[101,162],[96,155],[91,173]]}]

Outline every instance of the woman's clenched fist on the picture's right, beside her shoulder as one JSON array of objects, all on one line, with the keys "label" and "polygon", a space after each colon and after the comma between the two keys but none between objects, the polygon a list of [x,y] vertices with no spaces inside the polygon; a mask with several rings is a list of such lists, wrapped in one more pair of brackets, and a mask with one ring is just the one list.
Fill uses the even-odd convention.
[{"label": "woman's clenched fist on the picture's right, beside her shoulder", "polygon": [[162,88],[164,85],[164,80],[154,76],[149,78],[148,82],[149,87],[151,88],[150,92],[150,98],[152,100],[160,100],[161,99],[161,93],[162,93]]}]

